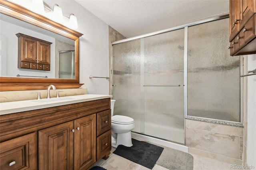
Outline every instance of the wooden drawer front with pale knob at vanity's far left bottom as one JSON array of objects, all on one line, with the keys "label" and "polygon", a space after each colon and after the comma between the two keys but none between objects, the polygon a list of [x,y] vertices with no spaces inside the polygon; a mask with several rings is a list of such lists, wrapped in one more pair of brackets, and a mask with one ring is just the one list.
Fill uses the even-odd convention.
[{"label": "wooden drawer front with pale knob at vanity's far left bottom", "polygon": [[36,170],[37,135],[27,134],[0,144],[0,170]]}]

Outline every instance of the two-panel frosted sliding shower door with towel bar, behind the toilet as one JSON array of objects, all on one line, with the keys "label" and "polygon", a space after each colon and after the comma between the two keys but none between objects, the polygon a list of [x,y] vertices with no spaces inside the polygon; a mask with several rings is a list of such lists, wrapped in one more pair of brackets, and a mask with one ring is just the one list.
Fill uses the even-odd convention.
[{"label": "two-panel frosted sliding shower door with towel bar, behind the toilet", "polygon": [[184,29],[113,45],[114,115],[184,144]]}]

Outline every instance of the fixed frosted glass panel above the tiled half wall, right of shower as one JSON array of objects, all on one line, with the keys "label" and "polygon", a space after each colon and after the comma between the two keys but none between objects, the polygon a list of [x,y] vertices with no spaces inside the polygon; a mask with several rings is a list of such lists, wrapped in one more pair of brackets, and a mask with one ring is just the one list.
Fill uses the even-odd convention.
[{"label": "fixed frosted glass panel above the tiled half wall, right of shower", "polygon": [[230,57],[229,19],[188,28],[188,115],[240,122],[240,57]]}]

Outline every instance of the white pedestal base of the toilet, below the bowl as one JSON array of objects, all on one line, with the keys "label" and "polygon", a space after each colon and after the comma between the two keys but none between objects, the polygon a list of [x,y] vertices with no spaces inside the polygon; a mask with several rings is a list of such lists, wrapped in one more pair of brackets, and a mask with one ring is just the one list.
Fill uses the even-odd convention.
[{"label": "white pedestal base of the toilet, below the bowl", "polygon": [[117,146],[120,145],[120,144],[122,144],[124,146],[127,146],[127,147],[132,146],[131,131],[126,132],[126,133],[118,133],[117,137],[116,137],[115,134],[116,133],[114,133],[114,135],[112,134],[112,142],[111,142],[112,147],[117,148]]}]

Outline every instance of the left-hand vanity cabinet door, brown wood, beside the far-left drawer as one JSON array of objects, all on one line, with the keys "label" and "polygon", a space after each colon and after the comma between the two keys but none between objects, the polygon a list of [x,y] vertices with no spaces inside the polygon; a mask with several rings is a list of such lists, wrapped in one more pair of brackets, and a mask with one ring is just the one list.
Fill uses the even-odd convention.
[{"label": "left-hand vanity cabinet door, brown wood, beside the far-left drawer", "polygon": [[74,169],[73,121],[38,131],[39,170]]}]

